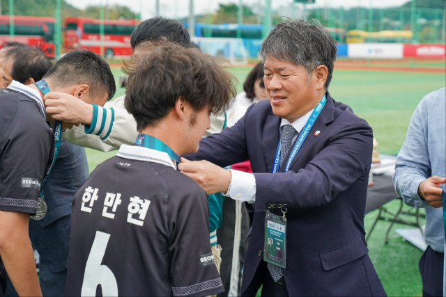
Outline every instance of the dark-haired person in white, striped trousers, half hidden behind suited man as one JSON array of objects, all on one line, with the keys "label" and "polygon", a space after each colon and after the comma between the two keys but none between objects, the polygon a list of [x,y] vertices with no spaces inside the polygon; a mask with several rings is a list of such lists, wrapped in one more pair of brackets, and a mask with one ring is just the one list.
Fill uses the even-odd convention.
[{"label": "dark-haired person in white, striped trousers, half hidden behind suited man", "polygon": [[[249,72],[245,83],[244,92],[236,96],[236,100],[228,114],[228,127],[233,126],[245,115],[251,104],[268,99],[268,93],[263,83],[263,63],[258,63]],[[252,172],[251,163],[234,164],[232,169]],[[245,239],[249,230],[249,214],[245,204],[233,200],[225,199],[223,202],[223,223],[217,229],[217,238],[222,246],[222,265],[220,266],[220,277],[226,289],[218,296],[240,296],[241,271],[247,245]]]}]

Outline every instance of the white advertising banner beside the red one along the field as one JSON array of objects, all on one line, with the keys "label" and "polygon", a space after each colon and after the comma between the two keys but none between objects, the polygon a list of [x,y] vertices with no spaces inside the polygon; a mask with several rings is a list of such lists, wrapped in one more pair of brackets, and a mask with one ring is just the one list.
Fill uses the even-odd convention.
[{"label": "white advertising banner beside the red one along the field", "polygon": [[402,43],[351,43],[348,45],[348,58],[403,58]]}]

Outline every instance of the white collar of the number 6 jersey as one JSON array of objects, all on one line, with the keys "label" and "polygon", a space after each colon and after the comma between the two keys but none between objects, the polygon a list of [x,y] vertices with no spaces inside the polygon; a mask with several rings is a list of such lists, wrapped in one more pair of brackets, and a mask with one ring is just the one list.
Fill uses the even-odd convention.
[{"label": "white collar of the number 6 jersey", "polygon": [[167,154],[166,152],[152,150],[147,147],[121,145],[116,156],[120,156],[121,158],[125,159],[160,163],[166,166],[170,166],[171,168],[174,168],[176,170],[176,162],[170,159],[169,154]]}]

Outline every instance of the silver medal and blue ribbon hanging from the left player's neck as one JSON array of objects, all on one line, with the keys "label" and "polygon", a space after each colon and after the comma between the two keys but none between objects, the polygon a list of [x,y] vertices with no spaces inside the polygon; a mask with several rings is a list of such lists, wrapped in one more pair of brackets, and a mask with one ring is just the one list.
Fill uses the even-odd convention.
[{"label": "silver medal and blue ribbon hanging from the left player's neck", "polygon": [[[35,86],[38,87],[40,92],[43,94],[49,93],[49,86],[46,81],[43,79],[38,81],[37,83],[34,83]],[[51,175],[51,171],[54,167],[54,163],[56,163],[57,154],[59,154],[59,147],[61,147],[61,138],[62,138],[62,122],[60,120],[56,120],[54,122],[54,128],[52,128],[52,131],[54,133],[54,156],[53,161],[51,163],[51,166],[49,166],[49,169],[47,171],[47,174],[43,178],[42,186],[40,188],[40,194],[39,194],[39,200],[37,202],[37,211],[35,216],[31,216],[33,220],[40,220],[47,214],[48,207],[47,203],[45,202],[45,199],[43,197],[43,188],[47,184],[49,175]]]}]

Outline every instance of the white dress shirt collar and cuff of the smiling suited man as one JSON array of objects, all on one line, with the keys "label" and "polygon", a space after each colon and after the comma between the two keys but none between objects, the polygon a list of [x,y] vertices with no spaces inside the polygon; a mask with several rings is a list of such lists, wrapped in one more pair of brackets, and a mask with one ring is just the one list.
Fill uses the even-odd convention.
[{"label": "white dress shirt collar and cuff of the smiling suited man", "polygon": [[[294,129],[298,131],[298,133],[300,133],[300,130],[302,130],[302,128],[305,126],[312,113],[313,109],[308,113],[305,113],[305,115],[298,118],[291,124],[288,120],[282,119],[282,122],[280,122],[279,132],[284,125],[292,125]],[[298,134],[295,134],[295,136],[293,137],[293,143],[296,138],[298,138]],[[256,178],[254,177],[254,175],[248,172],[233,169],[230,170],[231,186],[229,188],[229,193],[224,193],[223,195],[234,200],[240,200],[243,202],[248,202],[249,204],[254,204],[254,202],[256,202]]]}]

